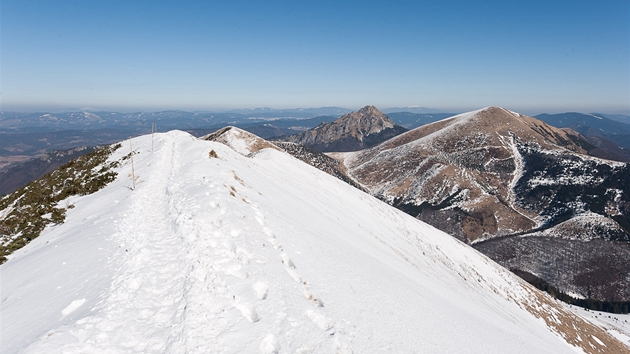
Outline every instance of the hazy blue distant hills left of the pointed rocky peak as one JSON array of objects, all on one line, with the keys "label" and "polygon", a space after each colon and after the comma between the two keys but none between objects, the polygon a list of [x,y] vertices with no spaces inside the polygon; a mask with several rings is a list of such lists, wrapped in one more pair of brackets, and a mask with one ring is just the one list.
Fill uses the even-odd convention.
[{"label": "hazy blue distant hills left of the pointed rocky peak", "polygon": [[[179,129],[195,136],[206,135],[226,125],[237,125],[261,137],[270,138],[299,133],[322,122],[331,122],[338,115],[327,116],[323,113],[339,111],[349,110],[325,107],[302,111],[251,110],[248,114],[185,111],[0,112],[0,170],[9,163],[24,161],[29,157],[44,156],[55,150],[112,144],[130,136],[150,133],[153,123],[156,124],[158,131]],[[15,158],[3,159],[8,156]]]}]

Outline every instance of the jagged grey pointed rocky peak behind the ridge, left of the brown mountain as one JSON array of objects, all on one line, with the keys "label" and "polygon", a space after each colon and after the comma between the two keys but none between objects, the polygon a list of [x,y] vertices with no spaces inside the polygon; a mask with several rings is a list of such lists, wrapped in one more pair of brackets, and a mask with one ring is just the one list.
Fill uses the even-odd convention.
[{"label": "jagged grey pointed rocky peak behind the ridge, left of the brown mountain", "polygon": [[322,123],[281,140],[317,151],[356,151],[374,146],[407,131],[374,106],[344,114],[332,123]]}]

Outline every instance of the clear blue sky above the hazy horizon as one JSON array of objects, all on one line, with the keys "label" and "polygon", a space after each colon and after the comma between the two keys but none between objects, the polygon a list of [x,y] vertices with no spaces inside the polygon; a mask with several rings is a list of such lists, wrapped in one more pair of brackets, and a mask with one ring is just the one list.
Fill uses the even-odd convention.
[{"label": "clear blue sky above the hazy horizon", "polygon": [[630,110],[617,1],[0,4],[2,110]]}]

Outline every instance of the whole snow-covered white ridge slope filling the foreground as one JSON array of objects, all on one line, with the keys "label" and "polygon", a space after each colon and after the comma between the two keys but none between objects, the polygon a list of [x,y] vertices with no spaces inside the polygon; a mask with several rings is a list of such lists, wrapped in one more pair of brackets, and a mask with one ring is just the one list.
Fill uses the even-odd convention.
[{"label": "whole snow-covered white ridge slope filling the foreground", "polygon": [[122,166],[1,266],[2,353],[626,350],[468,246],[285,153],[247,158],[177,131],[153,152],[151,136],[133,145],[135,191]]}]

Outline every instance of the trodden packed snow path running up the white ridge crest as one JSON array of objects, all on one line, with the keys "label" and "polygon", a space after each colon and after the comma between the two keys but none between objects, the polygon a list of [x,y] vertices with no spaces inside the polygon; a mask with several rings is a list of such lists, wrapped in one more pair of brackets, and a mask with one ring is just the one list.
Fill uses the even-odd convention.
[{"label": "trodden packed snow path running up the white ridge crest", "polygon": [[[179,168],[175,153],[173,148],[154,152],[155,164],[147,172],[155,178],[138,183],[113,235],[124,251],[120,265],[114,265],[118,275],[98,315],[82,319],[73,330],[83,340],[64,350],[159,352],[177,335],[173,323],[181,321],[177,310],[185,296],[187,270],[182,262],[186,244],[169,205]],[[131,325],[129,318],[134,319]]]}]

